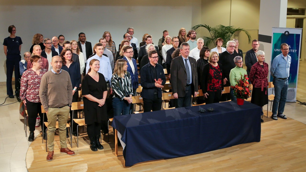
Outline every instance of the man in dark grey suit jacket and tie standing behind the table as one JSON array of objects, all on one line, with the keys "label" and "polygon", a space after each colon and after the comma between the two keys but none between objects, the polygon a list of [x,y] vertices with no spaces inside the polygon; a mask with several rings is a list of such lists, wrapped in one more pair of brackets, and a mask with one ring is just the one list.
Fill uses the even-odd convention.
[{"label": "man in dark grey suit jacket and tie standing behind the table", "polygon": [[195,97],[198,91],[196,59],[188,57],[188,43],[182,43],[180,49],[181,55],[172,59],[170,67],[173,97],[177,99],[176,108],[191,106],[191,95]]}]

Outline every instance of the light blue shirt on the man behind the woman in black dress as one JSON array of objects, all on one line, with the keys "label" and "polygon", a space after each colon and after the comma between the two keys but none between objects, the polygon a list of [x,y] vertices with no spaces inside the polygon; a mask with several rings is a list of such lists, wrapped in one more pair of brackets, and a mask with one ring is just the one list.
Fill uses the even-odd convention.
[{"label": "light blue shirt on the man behind the woman in black dress", "polygon": [[[91,58],[87,59],[87,63],[86,63],[86,74],[88,73],[88,69],[89,69],[89,62],[92,59],[98,59],[100,62],[100,69],[99,69],[99,73],[102,73],[106,82],[109,81],[111,83],[111,79],[112,79],[112,67],[110,65],[110,59],[104,55],[102,55],[102,57],[99,57],[97,54],[95,54],[94,56],[92,56]],[[111,87],[111,84],[110,84]]]}]

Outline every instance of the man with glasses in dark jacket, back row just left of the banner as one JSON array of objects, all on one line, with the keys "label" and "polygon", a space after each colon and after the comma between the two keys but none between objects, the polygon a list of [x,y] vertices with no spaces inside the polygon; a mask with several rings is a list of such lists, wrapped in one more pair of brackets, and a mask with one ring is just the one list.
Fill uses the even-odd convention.
[{"label": "man with glasses in dark jacket, back row just left of the banner", "polygon": [[[259,42],[257,39],[254,39],[252,41],[252,47],[253,48],[251,50],[248,50],[246,52],[245,57],[244,57],[244,62],[245,62],[245,65],[247,66],[248,76],[250,75],[252,65],[254,65],[258,61],[256,57],[256,53],[258,51]],[[251,84],[250,80],[249,80],[249,83]]]}]

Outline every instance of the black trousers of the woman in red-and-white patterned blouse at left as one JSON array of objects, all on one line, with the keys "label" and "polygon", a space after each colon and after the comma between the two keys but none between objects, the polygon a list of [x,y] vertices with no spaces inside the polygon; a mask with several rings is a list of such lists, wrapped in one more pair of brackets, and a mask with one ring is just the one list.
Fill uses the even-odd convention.
[{"label": "black trousers of the woman in red-and-white patterned blouse at left", "polygon": [[[30,102],[27,99],[25,99],[25,101],[26,101],[25,105],[26,105],[27,111],[28,111],[29,130],[30,131],[35,131],[37,114],[39,114],[39,117],[40,117],[41,129],[43,129],[43,125],[44,125],[44,129],[46,129],[47,127],[43,123],[43,114],[41,113],[41,103],[40,102],[39,103]],[[45,114],[45,122],[48,122],[46,114]]]}]

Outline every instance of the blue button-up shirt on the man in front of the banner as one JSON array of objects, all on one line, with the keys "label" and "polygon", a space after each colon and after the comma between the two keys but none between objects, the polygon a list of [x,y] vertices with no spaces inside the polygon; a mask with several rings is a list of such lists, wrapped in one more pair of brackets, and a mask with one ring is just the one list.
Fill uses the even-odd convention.
[{"label": "blue button-up shirt on the man in front of the banner", "polygon": [[285,60],[284,55],[281,53],[276,56],[270,68],[271,75],[274,78],[288,78],[289,70],[291,64],[291,57],[287,54],[287,60]]}]

